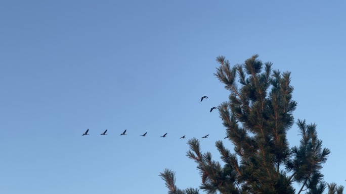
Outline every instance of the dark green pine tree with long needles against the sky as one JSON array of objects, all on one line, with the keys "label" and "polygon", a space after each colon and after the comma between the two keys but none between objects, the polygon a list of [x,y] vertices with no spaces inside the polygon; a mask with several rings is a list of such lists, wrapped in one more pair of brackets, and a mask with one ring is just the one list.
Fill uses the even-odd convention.
[{"label": "dark green pine tree with long needles against the sky", "polygon": [[[197,163],[201,175],[200,189],[208,194],[238,193],[323,193],[327,184],[321,173],[330,150],[322,148],[316,124],[297,120],[300,145],[289,147],[287,131],[294,124],[293,87],[290,73],[272,70],[253,55],[243,64],[231,67],[224,56],[217,57],[220,67],[214,74],[230,91],[229,101],[218,109],[234,153],[222,141],[215,143],[222,166],[202,153],[199,140],[188,141],[187,156]],[[198,193],[198,189],[181,190],[175,185],[174,172],[160,174],[169,193]],[[300,188],[293,188],[298,182]],[[331,193],[342,193],[343,187],[328,184]]]}]

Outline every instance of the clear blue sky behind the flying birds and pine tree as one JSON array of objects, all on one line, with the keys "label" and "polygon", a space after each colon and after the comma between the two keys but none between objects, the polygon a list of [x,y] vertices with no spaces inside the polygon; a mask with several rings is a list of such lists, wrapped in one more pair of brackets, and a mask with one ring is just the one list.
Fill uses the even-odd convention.
[{"label": "clear blue sky behind the flying birds and pine tree", "polygon": [[0,193],[167,193],[158,176],[165,168],[180,188],[198,187],[188,139],[210,134],[202,151],[220,161],[214,143],[226,133],[218,111],[209,112],[229,95],[213,76],[215,58],[236,64],[253,54],[291,72],[295,120],[317,124],[331,150],[325,181],[345,185],[345,7],[1,1]]}]

